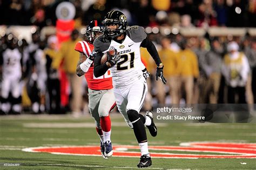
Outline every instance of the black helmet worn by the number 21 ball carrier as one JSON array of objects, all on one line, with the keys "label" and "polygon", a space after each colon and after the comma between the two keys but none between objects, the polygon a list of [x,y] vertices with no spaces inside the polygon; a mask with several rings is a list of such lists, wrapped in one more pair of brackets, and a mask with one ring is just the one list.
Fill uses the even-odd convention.
[{"label": "black helmet worn by the number 21 ball carrier", "polygon": [[[112,10],[107,12],[102,21],[104,34],[110,38],[116,38],[125,32],[127,28],[126,16],[123,12]],[[117,29],[108,29],[110,25],[117,25]]]}]

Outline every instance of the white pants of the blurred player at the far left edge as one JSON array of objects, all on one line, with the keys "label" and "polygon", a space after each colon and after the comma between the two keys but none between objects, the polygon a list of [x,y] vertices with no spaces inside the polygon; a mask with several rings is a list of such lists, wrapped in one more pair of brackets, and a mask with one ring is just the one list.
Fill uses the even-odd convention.
[{"label": "white pants of the blurred player at the far left edge", "polygon": [[10,76],[3,78],[1,96],[4,99],[8,98],[10,92],[12,94],[12,97],[14,98],[18,98],[19,96],[21,96],[23,86],[22,83],[19,81],[20,79],[20,76]]}]

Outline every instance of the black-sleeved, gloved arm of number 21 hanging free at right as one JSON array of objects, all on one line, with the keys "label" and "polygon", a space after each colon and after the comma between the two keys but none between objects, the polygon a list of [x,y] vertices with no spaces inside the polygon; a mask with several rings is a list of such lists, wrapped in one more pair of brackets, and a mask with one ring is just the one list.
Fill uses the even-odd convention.
[{"label": "black-sleeved, gloved arm of number 21 hanging free at right", "polygon": [[149,51],[151,57],[154,59],[154,62],[157,64],[157,71],[156,71],[156,80],[158,80],[158,77],[161,79],[163,84],[166,84],[166,79],[164,78],[164,65],[161,62],[161,59],[158,55],[156,46],[149,40],[148,38],[145,38],[140,44],[141,47],[144,47]]}]

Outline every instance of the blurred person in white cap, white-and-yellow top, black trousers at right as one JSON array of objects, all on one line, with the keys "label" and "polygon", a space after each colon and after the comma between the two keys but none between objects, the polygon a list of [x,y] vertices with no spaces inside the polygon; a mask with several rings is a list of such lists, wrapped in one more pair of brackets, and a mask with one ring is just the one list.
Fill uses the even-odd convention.
[{"label": "blurred person in white cap, white-and-yellow top, black trousers at right", "polygon": [[[245,86],[248,79],[250,66],[244,53],[239,52],[239,46],[235,42],[227,45],[227,55],[223,60],[221,71],[225,77],[227,85],[227,102],[246,103]],[[235,101],[238,96],[238,101]]]}]

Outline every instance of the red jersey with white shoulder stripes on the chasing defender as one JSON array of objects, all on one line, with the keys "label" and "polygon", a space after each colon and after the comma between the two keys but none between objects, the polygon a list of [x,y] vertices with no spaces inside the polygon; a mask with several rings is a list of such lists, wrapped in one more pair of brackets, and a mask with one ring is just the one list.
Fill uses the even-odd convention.
[{"label": "red jersey with white shoulder stripes on the chasing defender", "polygon": [[[76,44],[75,50],[83,53],[86,57],[91,55],[94,47],[93,44],[87,41],[80,41]],[[88,87],[92,90],[109,90],[113,88],[112,85],[112,76],[110,70],[100,77],[95,77],[93,74],[93,65],[91,64],[89,70],[85,73],[85,78],[88,84]]]}]

